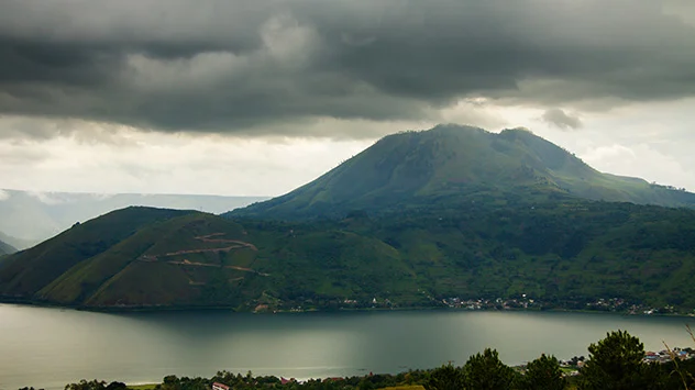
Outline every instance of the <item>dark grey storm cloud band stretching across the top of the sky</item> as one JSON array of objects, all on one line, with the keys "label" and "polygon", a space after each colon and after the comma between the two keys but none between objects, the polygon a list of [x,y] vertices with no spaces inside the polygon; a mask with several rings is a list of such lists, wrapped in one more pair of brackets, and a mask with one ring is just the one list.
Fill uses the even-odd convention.
[{"label": "dark grey storm cloud band stretching across the top of the sky", "polygon": [[549,110],[693,97],[695,26],[662,5],[4,1],[0,113],[234,132],[435,120],[478,97]]}]

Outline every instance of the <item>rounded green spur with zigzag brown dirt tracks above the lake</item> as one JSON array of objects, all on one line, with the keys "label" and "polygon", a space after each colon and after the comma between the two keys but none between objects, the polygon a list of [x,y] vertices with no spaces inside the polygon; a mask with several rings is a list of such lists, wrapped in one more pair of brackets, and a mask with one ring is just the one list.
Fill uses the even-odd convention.
[{"label": "rounded green spur with zigzag brown dirt tracks above the lake", "polygon": [[95,307],[241,302],[244,289],[235,287],[263,278],[250,268],[256,250],[244,239],[241,226],[198,212],[150,224],[74,266],[35,298]]}]

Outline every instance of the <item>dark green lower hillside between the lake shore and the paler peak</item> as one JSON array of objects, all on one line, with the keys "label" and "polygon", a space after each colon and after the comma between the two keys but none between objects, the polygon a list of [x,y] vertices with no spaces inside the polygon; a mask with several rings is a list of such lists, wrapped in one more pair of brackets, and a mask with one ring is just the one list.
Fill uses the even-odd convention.
[{"label": "dark green lower hillside between the lake shore and the paler peak", "polygon": [[[137,227],[123,234],[129,219]],[[369,308],[374,299],[435,307],[451,297],[526,293],[555,308],[608,298],[695,308],[688,209],[583,200],[528,207],[499,198],[289,223],[139,208],[84,226],[120,239],[95,250],[91,230],[76,226],[32,256],[10,256],[0,264],[0,298],[254,310]]]}]

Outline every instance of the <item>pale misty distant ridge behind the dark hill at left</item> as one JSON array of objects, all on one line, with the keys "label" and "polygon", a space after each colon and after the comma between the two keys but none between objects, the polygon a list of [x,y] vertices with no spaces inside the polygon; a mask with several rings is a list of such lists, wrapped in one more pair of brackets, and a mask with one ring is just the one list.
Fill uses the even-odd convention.
[{"label": "pale misty distant ridge behind the dark hill at left", "polygon": [[76,193],[0,190],[0,239],[24,249],[76,222],[129,205],[222,213],[265,200],[260,197],[191,194]]}]

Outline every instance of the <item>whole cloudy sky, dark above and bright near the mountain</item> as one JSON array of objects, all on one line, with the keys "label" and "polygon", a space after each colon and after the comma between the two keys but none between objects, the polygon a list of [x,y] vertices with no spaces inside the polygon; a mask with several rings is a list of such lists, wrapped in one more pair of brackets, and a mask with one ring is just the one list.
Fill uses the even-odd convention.
[{"label": "whole cloudy sky, dark above and bright near the mountain", "polygon": [[0,188],[275,196],[437,123],[695,190],[695,1],[0,2]]}]

